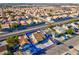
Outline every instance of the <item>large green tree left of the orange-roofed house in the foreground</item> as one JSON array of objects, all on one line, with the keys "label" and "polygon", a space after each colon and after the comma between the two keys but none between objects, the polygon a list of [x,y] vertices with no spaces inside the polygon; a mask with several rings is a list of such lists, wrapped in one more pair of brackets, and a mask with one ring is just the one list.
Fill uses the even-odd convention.
[{"label": "large green tree left of the orange-roofed house in the foreground", "polygon": [[[14,51],[16,51],[17,49],[19,50],[19,43],[18,43],[18,36],[10,36],[7,38],[7,50],[8,50],[8,53],[7,54],[13,54]],[[17,49],[15,49],[17,48]]]}]

